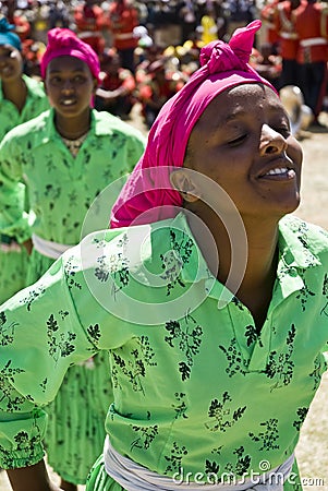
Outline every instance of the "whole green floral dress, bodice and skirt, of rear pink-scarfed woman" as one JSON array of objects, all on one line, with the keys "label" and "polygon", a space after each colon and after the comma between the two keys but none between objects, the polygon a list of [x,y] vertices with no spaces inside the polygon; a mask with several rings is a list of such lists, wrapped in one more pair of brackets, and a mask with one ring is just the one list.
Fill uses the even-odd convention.
[{"label": "whole green floral dress, bodice and skirt, of rear pink-scarfed woman", "polygon": [[[7,203],[0,214],[2,230],[14,232],[19,241],[32,230],[41,239],[74,246],[86,230],[107,228],[110,200],[116,199],[144,144],[143,135],[131,125],[96,110],[75,158],[56,131],[52,109],[12,130],[0,149],[0,179]],[[22,182],[35,215],[32,226],[23,214]],[[104,189],[105,197],[110,200],[106,199],[106,205],[98,209],[98,203],[93,203]],[[34,249],[27,284],[35,283],[52,263],[51,258]],[[102,351],[69,370],[47,409],[48,462],[68,481],[85,483],[104,446],[104,420],[111,400],[108,355]]]}]

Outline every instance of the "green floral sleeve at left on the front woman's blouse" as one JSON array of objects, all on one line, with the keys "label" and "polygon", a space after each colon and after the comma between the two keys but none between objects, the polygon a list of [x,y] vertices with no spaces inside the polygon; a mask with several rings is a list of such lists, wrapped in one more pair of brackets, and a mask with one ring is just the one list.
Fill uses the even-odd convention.
[{"label": "green floral sleeve at left on the front woman's blouse", "polygon": [[97,351],[80,323],[66,279],[64,259],[59,259],[0,308],[2,468],[42,458],[42,407],[54,398],[68,368]]}]

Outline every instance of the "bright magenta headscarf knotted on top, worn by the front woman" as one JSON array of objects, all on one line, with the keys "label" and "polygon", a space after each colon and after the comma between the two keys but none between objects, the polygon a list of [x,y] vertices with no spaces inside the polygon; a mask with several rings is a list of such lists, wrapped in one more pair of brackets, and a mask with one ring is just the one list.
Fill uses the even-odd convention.
[{"label": "bright magenta headscarf knotted on top, worn by the front woman", "polygon": [[262,83],[277,92],[248,64],[260,25],[260,21],[254,21],[236,29],[229,44],[216,40],[202,49],[201,69],[165,104],[155,120],[145,153],[112,207],[111,228],[177,215],[183,200],[170,183],[170,172],[183,166],[192,129],[218,94],[248,83]]}]

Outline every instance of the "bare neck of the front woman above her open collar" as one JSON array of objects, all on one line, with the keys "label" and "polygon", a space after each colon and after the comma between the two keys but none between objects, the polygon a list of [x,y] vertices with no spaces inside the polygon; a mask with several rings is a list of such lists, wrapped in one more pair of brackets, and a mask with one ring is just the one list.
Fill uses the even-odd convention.
[{"label": "bare neck of the front woman above her open collar", "polygon": [[250,309],[256,326],[260,328],[276,279],[279,220],[244,218],[245,233],[233,238],[234,231],[229,229],[229,219],[223,224],[211,213],[203,216],[197,213],[197,216],[208,227],[217,249],[218,260],[212,252],[212,244],[209,240],[204,241],[204,233],[193,225],[194,220],[189,219],[211,273]]}]

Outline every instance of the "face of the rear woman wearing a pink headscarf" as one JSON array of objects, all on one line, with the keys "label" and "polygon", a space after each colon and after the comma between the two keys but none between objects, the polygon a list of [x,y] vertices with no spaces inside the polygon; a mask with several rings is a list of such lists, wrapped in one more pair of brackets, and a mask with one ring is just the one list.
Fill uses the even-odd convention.
[{"label": "face of the rear woman wearing a pink headscarf", "polygon": [[88,65],[78,58],[53,58],[47,67],[45,87],[51,106],[66,118],[88,113],[97,86]]}]

